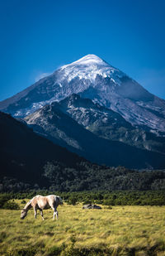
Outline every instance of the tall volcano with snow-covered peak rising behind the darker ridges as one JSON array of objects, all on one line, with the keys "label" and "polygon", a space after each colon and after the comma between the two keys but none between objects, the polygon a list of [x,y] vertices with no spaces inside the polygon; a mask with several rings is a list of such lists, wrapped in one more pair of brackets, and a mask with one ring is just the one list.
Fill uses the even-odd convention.
[{"label": "tall volcano with snow-covered peak rising behind the darker ridges", "polygon": [[60,67],[52,75],[2,101],[0,110],[25,117],[71,94],[81,94],[82,98],[112,109],[134,126],[165,133],[165,101],[95,55]]}]

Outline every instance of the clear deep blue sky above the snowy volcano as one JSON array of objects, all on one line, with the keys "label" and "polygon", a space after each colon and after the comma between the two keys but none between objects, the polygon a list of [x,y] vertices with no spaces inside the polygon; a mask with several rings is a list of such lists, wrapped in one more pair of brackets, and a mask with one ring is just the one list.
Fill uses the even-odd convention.
[{"label": "clear deep blue sky above the snowy volcano", "polygon": [[0,100],[96,54],[165,99],[164,0],[1,0]]}]

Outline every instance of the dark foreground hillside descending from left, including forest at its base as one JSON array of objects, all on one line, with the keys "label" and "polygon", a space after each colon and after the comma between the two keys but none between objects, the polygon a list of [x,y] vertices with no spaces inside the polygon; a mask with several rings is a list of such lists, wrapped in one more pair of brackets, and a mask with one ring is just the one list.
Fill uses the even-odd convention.
[{"label": "dark foreground hillside descending from left, including forest at its base", "polygon": [[87,162],[2,112],[0,141],[0,191],[3,192],[30,188],[35,191],[39,188],[50,191],[145,190],[159,186],[164,178],[163,171],[131,171]]}]

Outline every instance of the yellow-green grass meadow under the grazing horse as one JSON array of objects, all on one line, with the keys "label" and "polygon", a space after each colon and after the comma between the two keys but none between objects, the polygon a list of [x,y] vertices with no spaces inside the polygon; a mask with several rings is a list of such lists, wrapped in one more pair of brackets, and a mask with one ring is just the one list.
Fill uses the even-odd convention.
[{"label": "yellow-green grass meadow under the grazing horse", "polygon": [[165,206],[58,210],[58,221],[52,210],[44,221],[33,210],[25,220],[21,210],[0,210],[0,255],[165,255]]}]

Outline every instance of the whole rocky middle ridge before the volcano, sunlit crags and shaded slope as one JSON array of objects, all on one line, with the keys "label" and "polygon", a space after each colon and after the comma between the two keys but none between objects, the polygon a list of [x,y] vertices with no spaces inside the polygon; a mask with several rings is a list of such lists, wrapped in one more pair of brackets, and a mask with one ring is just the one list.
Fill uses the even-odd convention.
[{"label": "whole rocky middle ridge before the volcano, sunlit crags and shaded slope", "polygon": [[[70,110],[72,111],[68,113]],[[127,140],[125,139],[127,144],[120,141],[120,138],[125,138],[123,129],[125,133],[130,133],[133,129],[132,140],[134,141],[134,134],[139,140],[132,144],[136,146],[139,141],[143,142],[143,133],[134,132],[131,124],[120,117],[120,114],[93,104],[90,99],[81,99],[75,94],[64,99],[62,103],[52,103],[36,110],[25,121],[36,133],[92,162],[130,168],[164,166],[165,157],[162,153],[148,152],[143,145],[140,148],[132,147],[129,134]],[[87,125],[87,122],[88,127],[83,125]],[[111,133],[114,134],[114,140],[111,139]],[[152,145],[147,139],[145,143]],[[161,145],[160,143],[159,147]]]}]

